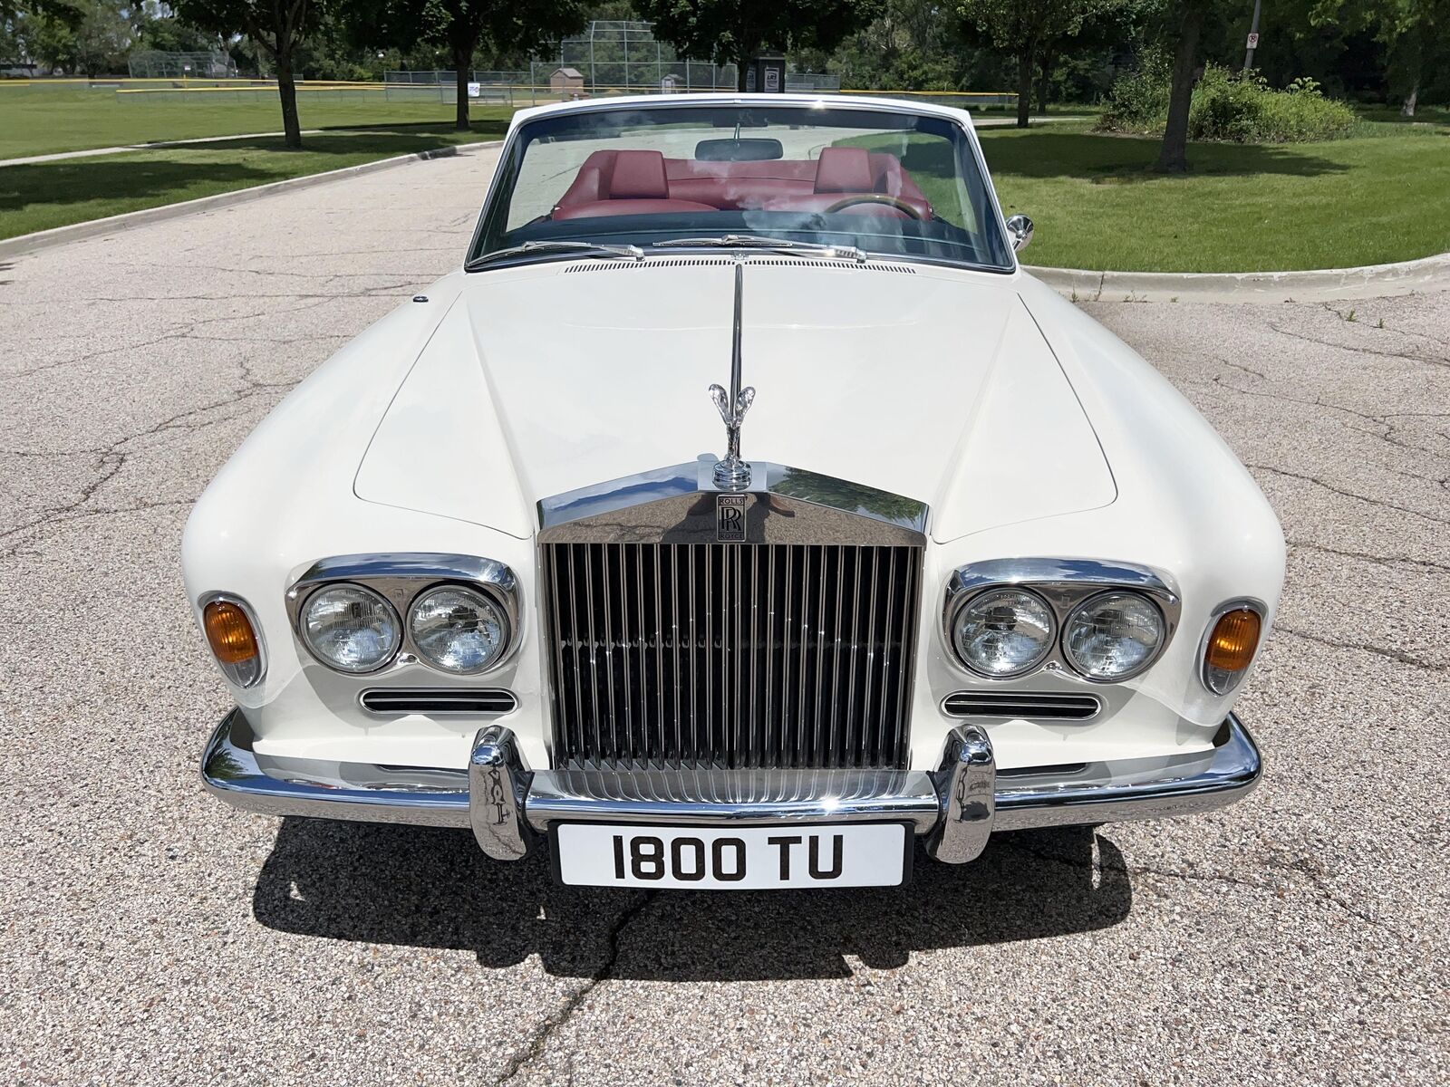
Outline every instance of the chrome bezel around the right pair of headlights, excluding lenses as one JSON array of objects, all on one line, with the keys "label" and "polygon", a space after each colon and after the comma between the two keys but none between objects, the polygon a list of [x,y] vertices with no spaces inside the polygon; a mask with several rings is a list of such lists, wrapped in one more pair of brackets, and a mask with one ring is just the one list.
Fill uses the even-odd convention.
[{"label": "chrome bezel around the right pair of headlights, excluding lenses", "polygon": [[[972,668],[957,654],[956,622],[963,607],[993,588],[1028,590],[1047,601],[1056,620],[1053,648],[1032,668],[1006,677]],[[1103,593],[1132,593],[1147,599],[1163,619],[1163,638],[1157,649],[1131,674],[1099,680],[1077,671],[1067,659],[1063,639],[1069,617],[1086,601]],[[1177,630],[1182,599],[1172,575],[1135,562],[1108,562],[1079,558],[1012,558],[972,562],[953,571],[942,604],[941,635],[947,658],[964,672],[985,680],[1022,680],[1050,672],[1093,686],[1131,681],[1151,668],[1167,651]]]}]

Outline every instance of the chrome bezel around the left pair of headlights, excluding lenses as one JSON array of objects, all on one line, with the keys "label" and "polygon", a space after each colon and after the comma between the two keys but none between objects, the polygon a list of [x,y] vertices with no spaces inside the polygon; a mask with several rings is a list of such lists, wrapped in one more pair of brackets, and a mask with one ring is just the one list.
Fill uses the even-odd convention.
[{"label": "chrome bezel around the left pair of headlights, excluding lenses", "polygon": [[[402,642],[390,662],[370,672],[349,672],[336,668],[331,661],[312,651],[303,636],[302,622],[306,603],[323,588],[339,583],[361,586],[383,597],[399,617]],[[439,668],[425,658],[412,636],[413,603],[435,588],[457,586],[484,596],[505,619],[506,644],[486,667],[458,672]],[[522,644],[522,610],[519,607],[518,578],[513,571],[492,558],[477,555],[450,555],[436,552],[389,552],[362,555],[335,555],[318,559],[287,588],[287,617],[293,635],[307,657],[339,675],[377,675],[397,668],[425,668],[438,675],[454,678],[484,675],[503,668]]]}]

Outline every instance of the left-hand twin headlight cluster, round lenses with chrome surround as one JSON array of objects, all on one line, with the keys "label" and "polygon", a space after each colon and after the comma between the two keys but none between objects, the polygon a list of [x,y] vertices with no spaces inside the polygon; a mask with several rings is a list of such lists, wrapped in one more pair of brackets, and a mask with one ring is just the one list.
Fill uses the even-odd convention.
[{"label": "left-hand twin headlight cluster, round lenses with chrome surround", "polygon": [[289,593],[297,638],[320,664],[362,675],[410,651],[441,672],[477,675],[508,657],[518,616],[508,567],[451,555],[348,558],[360,561],[318,564]]}]

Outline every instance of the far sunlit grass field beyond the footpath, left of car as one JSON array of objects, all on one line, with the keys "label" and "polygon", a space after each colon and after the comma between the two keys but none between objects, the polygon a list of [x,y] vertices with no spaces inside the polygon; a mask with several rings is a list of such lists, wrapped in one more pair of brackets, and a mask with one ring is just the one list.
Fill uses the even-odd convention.
[{"label": "far sunlit grass field beyond the footpath, left of car", "polygon": [[[387,101],[383,91],[300,91],[304,129],[447,125],[452,103]],[[508,106],[474,104],[473,119],[508,120]],[[54,90],[0,83],[0,159],[199,136],[281,132],[277,91],[191,91],[187,96]]]}]

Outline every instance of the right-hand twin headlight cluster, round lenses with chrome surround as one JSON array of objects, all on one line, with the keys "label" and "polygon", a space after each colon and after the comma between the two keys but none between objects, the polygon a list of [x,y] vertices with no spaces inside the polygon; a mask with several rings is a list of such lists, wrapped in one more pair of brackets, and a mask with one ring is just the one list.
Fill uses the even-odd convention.
[{"label": "right-hand twin headlight cluster, round lenses with chrome surround", "polygon": [[1141,567],[1025,559],[958,570],[945,620],[957,658],[979,675],[1006,680],[1056,661],[1118,683],[1157,659],[1177,610],[1177,594]]}]

